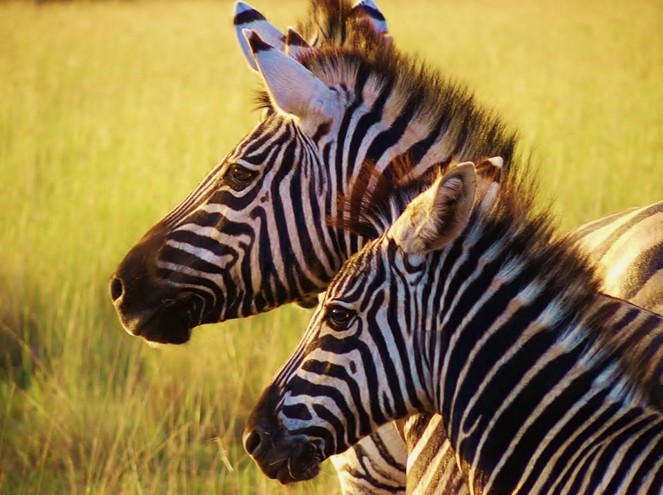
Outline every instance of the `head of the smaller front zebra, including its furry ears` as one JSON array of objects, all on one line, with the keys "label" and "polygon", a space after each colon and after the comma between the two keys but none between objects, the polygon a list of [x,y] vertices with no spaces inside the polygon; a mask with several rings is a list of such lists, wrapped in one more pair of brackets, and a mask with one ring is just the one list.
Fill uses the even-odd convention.
[{"label": "head of the smaller front zebra, including its furry ears", "polygon": [[501,163],[454,166],[343,264],[249,417],[244,447],[267,476],[311,478],[380,425],[433,410],[432,363],[415,331],[431,318],[430,253],[494,203]]}]

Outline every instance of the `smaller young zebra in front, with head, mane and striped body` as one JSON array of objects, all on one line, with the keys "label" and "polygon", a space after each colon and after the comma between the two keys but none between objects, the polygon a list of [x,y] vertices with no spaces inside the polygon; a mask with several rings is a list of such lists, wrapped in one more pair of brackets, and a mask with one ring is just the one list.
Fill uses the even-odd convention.
[{"label": "smaller young zebra in front, with head, mane and striped body", "polygon": [[361,232],[404,209],[336,274],[249,416],[267,476],[312,478],[379,425],[436,413],[472,494],[663,490],[663,318],[602,294],[534,180],[500,173],[459,164],[342,213]]}]

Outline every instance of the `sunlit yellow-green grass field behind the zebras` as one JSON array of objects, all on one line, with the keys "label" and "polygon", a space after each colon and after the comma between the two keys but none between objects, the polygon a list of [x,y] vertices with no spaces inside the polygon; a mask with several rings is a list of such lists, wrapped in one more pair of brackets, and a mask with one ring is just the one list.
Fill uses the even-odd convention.
[{"label": "sunlit yellow-green grass field behind the zebras", "polygon": [[[305,9],[253,1],[284,28]],[[521,130],[561,228],[663,199],[663,3],[380,5],[401,48]],[[0,3],[0,39],[0,493],[336,492],[331,466],[282,488],[240,445],[306,311],[155,351],[106,290],[258,119],[231,3]]]}]

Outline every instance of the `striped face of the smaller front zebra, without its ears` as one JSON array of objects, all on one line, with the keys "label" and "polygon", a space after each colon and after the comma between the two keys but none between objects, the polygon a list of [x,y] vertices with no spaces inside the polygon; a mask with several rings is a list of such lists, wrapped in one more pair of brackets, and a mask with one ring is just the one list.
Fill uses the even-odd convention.
[{"label": "striped face of the smaller front zebra, without its ears", "polygon": [[[281,483],[312,478],[322,460],[410,408],[402,394],[394,402],[396,394],[386,386],[401,362],[397,355],[383,360],[393,353],[393,340],[376,331],[404,309],[386,291],[390,280],[382,249],[394,253],[393,242],[381,237],[343,266],[249,418],[244,446],[270,478]],[[361,311],[365,305],[370,309]]]}]

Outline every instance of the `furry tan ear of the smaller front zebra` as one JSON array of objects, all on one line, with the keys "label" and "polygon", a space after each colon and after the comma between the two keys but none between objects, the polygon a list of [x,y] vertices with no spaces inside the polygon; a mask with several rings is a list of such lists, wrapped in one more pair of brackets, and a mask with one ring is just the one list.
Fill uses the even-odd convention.
[{"label": "furry tan ear of the smaller front zebra", "polygon": [[453,242],[467,226],[477,191],[472,162],[454,166],[415,197],[389,229],[408,254],[425,254]]}]

